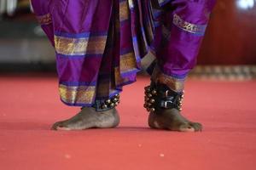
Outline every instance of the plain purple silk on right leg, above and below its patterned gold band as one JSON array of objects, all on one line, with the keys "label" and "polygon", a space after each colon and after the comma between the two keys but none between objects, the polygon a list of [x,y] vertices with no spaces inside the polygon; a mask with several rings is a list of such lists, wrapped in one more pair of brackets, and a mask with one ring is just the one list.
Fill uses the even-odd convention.
[{"label": "plain purple silk on right leg, above and below its patterned gold band", "polygon": [[[159,0],[160,1],[160,0]],[[154,48],[161,71],[166,75],[183,78],[196,64],[196,56],[201,46],[204,32],[201,35],[183,31],[173,25],[173,14],[183,20],[199,26],[207,26],[210,12],[215,0],[172,0],[162,1],[167,10],[162,12],[156,20],[161,24],[156,27]],[[169,34],[163,36],[163,30]]]}]

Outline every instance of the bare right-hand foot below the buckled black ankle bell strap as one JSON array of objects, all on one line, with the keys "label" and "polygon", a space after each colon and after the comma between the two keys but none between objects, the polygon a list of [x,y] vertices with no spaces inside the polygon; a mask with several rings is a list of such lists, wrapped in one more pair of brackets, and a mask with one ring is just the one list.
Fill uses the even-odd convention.
[{"label": "bare right-hand foot below the buckled black ankle bell strap", "polygon": [[201,123],[190,122],[177,109],[163,109],[159,112],[150,112],[148,125],[152,128],[179,132],[197,132],[202,130]]}]

